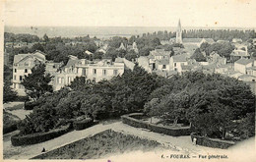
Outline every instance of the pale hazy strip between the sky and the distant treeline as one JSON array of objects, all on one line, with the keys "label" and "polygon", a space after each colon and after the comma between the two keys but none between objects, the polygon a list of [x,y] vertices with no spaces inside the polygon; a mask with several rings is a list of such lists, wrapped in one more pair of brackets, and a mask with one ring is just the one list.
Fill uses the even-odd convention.
[{"label": "pale hazy strip between the sky and the distant treeline", "polygon": [[[182,26],[182,25],[181,25]],[[153,33],[158,31],[167,32],[175,32],[177,27],[89,27],[89,26],[62,26],[62,27],[45,27],[45,26],[37,26],[37,27],[29,27],[29,26],[5,26],[5,32],[12,33],[29,33],[33,35],[37,35],[38,37],[42,37],[45,33],[49,37],[79,37],[79,36],[96,36],[98,38],[109,38],[112,36],[124,36],[130,37],[132,35],[142,35],[143,33]],[[229,29],[229,30],[255,30],[252,27],[182,27],[182,30],[190,30],[190,29]]]}]

